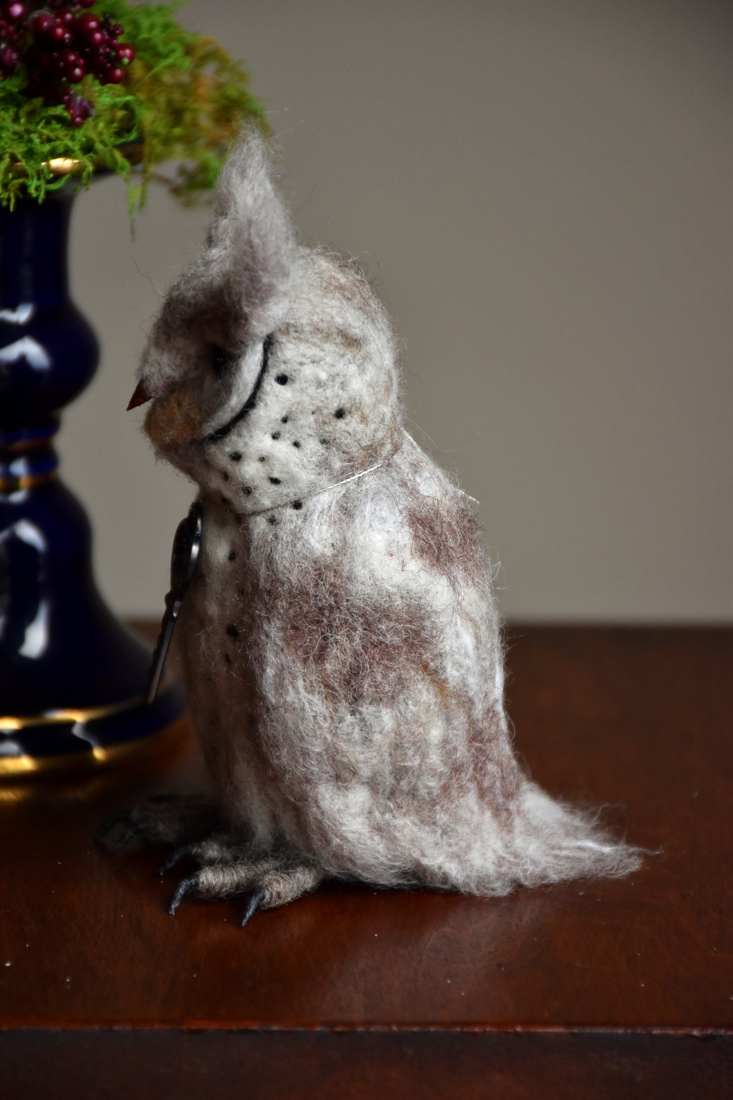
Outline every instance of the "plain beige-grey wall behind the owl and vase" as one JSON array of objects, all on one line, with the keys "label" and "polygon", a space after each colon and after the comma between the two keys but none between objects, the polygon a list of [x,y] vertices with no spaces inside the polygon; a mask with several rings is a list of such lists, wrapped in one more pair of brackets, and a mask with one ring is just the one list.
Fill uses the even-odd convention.
[{"label": "plain beige-grey wall behind the owl and vase", "polygon": [[[731,12],[704,0],[200,0],[246,59],[302,238],[357,255],[413,431],[481,502],[508,616],[733,616]],[[125,414],[208,213],[78,199],[97,380],[60,437],[100,586],[158,615],[192,487]]]}]

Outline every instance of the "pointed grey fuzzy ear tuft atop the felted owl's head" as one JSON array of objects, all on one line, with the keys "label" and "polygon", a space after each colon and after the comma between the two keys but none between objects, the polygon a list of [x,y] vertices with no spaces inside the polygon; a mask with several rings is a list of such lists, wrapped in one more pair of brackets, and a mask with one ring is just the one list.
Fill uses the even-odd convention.
[{"label": "pointed grey fuzzy ear tuft atop the felted owl's head", "polygon": [[274,186],[269,148],[257,131],[232,146],[222,168],[208,245],[233,327],[242,339],[266,337],[287,310],[298,244]]}]

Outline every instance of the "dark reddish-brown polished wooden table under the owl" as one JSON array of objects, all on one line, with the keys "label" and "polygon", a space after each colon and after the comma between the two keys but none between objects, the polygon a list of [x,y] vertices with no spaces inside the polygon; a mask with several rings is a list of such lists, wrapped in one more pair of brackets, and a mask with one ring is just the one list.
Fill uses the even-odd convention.
[{"label": "dark reddish-brown polished wooden table under the owl", "polygon": [[658,850],[499,900],[333,884],[257,915],[166,902],[91,839],[204,780],[193,748],[0,803],[3,1098],[733,1096],[733,631],[520,627],[517,746]]}]

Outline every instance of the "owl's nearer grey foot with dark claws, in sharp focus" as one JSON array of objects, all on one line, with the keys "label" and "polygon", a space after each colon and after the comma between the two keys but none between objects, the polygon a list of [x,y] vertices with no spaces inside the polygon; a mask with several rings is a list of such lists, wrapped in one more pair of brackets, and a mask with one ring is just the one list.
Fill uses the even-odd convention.
[{"label": "owl's nearer grey foot with dark claws, in sharp focus", "polygon": [[[203,866],[195,875],[181,879],[176,887],[168,909],[171,916],[188,893],[196,893],[199,898],[232,898],[246,893],[248,897],[242,920],[244,925],[260,909],[287,905],[315,890],[323,878],[323,871],[319,867],[292,857],[275,854],[256,857],[235,847],[231,847],[226,856],[223,856],[224,846],[225,838],[220,835],[201,844],[189,845],[180,850],[180,856],[174,853],[177,858],[168,860],[170,866],[184,856],[198,859]],[[219,856],[213,855],[216,848]],[[212,861],[207,862],[208,858]]]}]

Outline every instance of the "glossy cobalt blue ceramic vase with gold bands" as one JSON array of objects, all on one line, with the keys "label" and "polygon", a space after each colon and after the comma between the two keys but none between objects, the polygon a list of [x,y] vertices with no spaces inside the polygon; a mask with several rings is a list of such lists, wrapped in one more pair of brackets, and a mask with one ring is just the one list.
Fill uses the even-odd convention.
[{"label": "glossy cobalt blue ceramic vase with gold bands", "polygon": [[151,652],[99,595],[57,475],[58,413],[99,358],[68,293],[67,187],[0,208],[0,776],[108,762],[182,713],[176,685],[143,704]]}]

